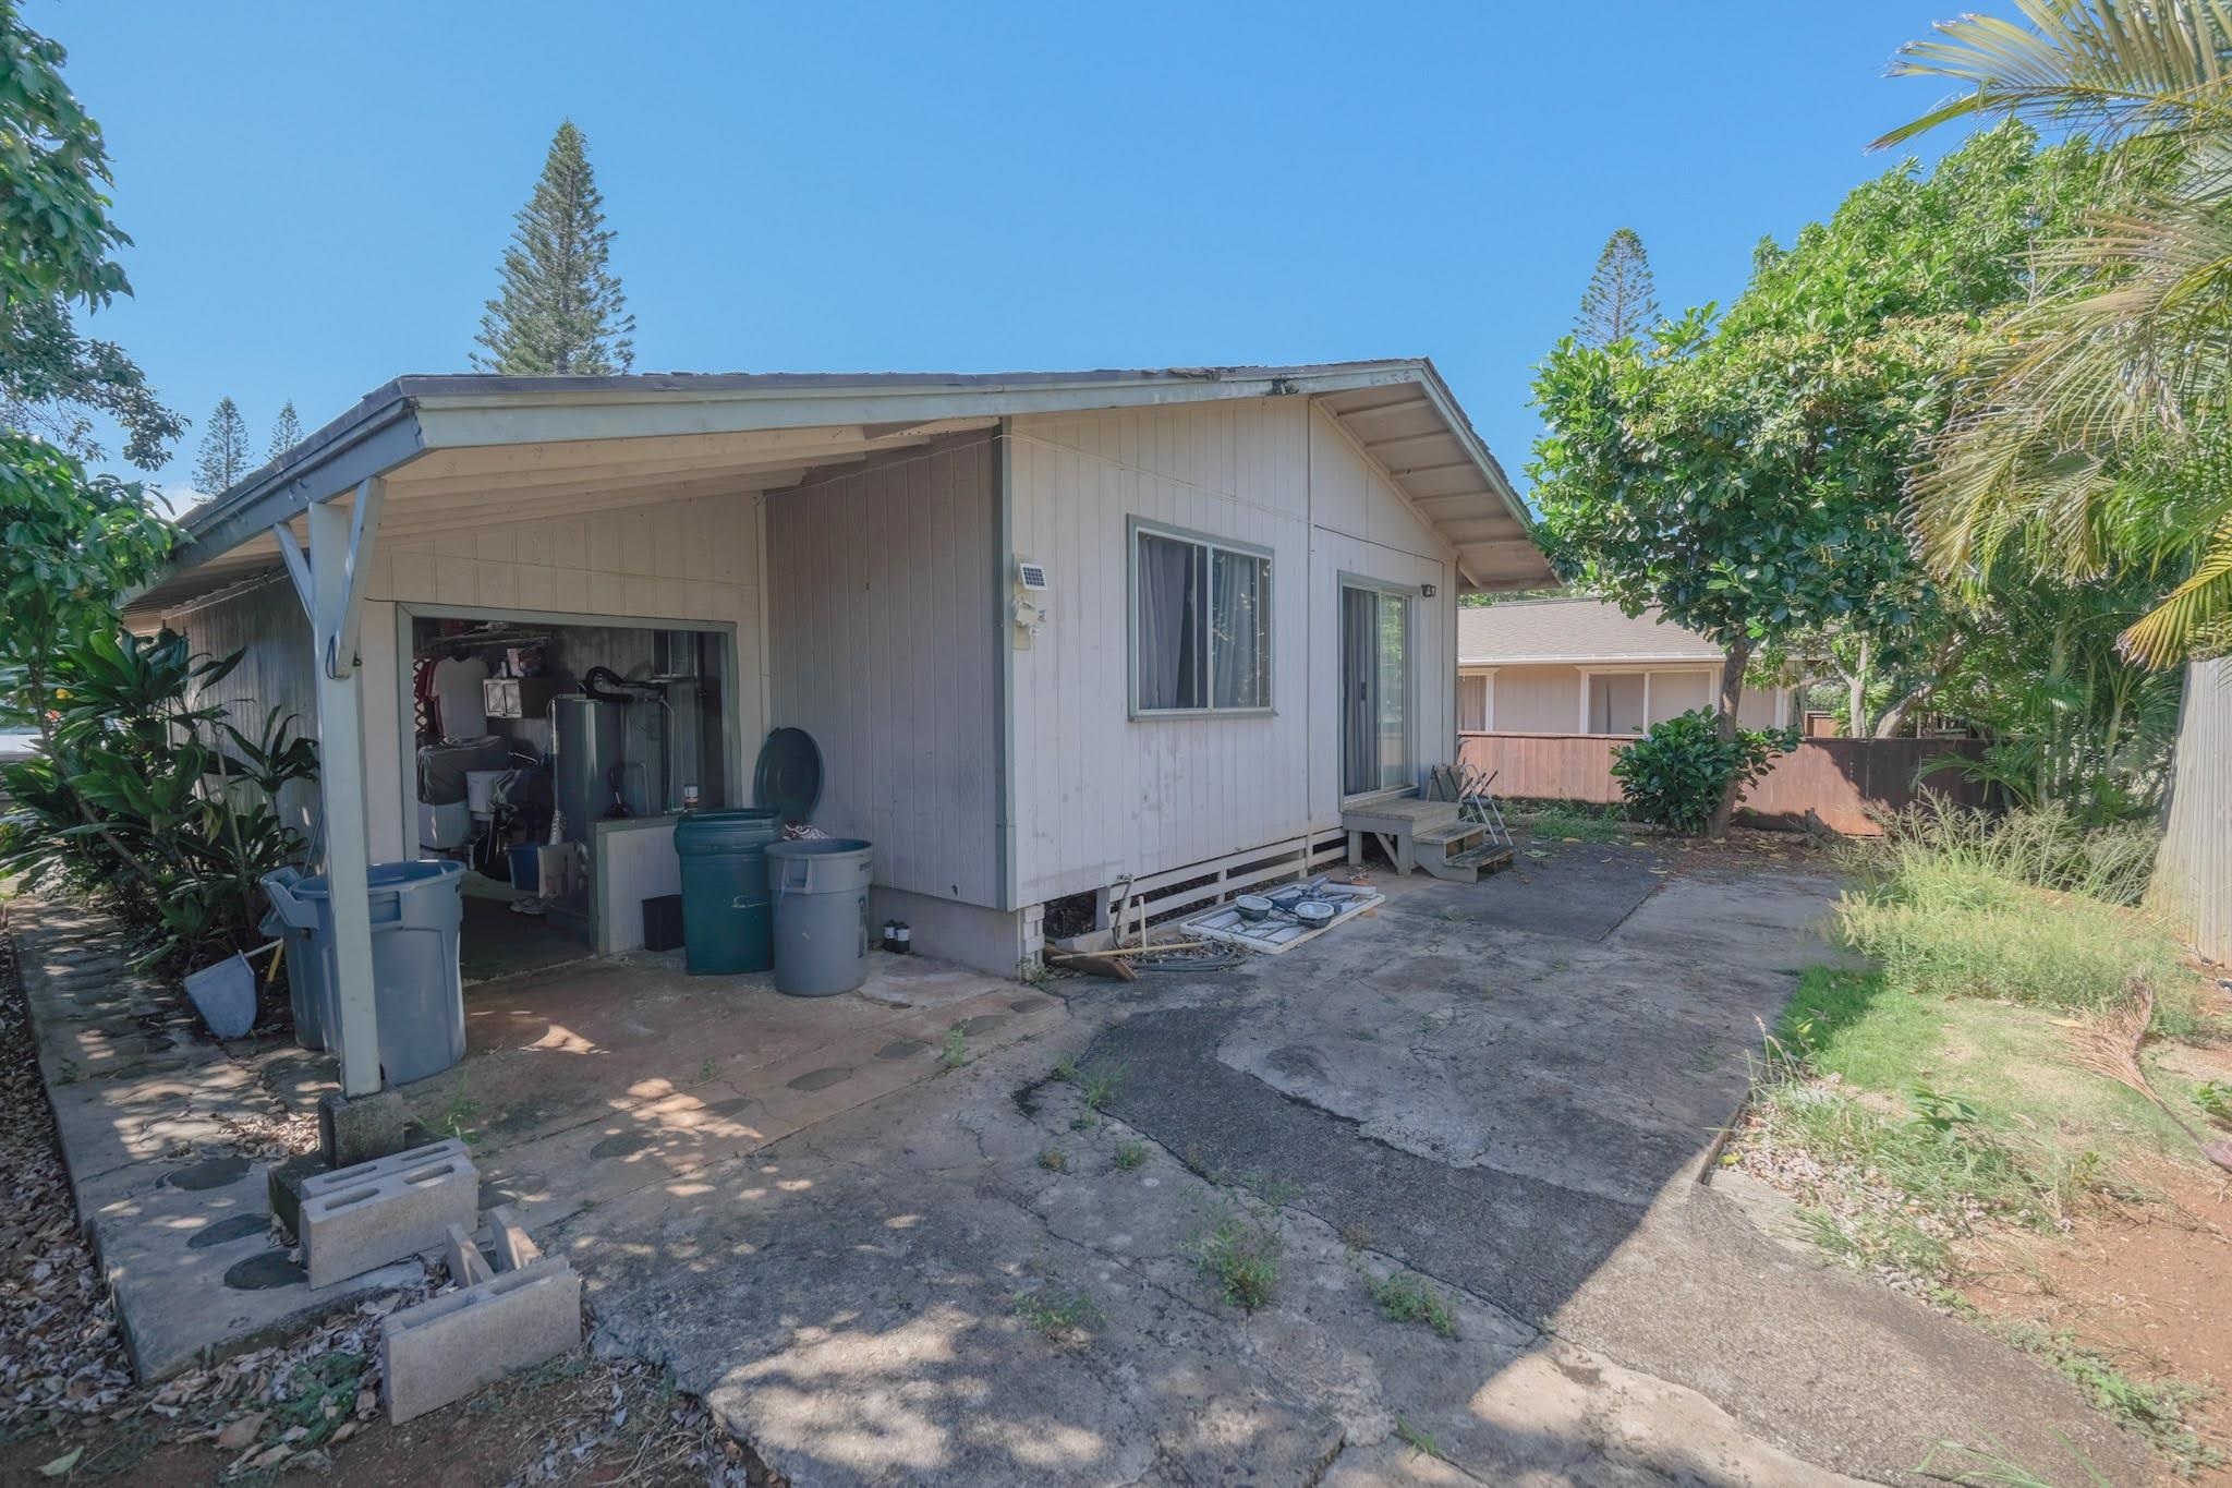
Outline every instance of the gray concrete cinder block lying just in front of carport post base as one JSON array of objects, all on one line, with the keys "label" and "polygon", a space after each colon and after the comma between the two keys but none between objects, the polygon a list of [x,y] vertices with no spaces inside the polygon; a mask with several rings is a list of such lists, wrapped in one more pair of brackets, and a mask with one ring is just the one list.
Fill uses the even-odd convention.
[{"label": "gray concrete cinder block lying just in front of carport post base", "polygon": [[326,1287],[388,1260],[442,1249],[451,1225],[473,1229],[480,1173],[464,1142],[435,1142],[301,1185],[301,1258]]}]

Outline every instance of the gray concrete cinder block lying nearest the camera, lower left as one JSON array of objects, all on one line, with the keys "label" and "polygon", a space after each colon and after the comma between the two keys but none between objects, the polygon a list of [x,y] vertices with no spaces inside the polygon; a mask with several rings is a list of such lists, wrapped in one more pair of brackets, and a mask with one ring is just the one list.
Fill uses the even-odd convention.
[{"label": "gray concrete cinder block lying nearest the camera, lower left", "polygon": [[580,1343],[580,1276],[562,1258],[391,1314],[379,1339],[388,1423],[464,1399]]}]

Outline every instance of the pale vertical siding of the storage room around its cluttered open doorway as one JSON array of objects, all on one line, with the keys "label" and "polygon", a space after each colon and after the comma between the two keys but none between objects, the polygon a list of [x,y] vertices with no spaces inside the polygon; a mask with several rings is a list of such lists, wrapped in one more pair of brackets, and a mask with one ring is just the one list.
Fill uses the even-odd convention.
[{"label": "pale vertical siding of the storage room around its cluttered open doorway", "polygon": [[[759,718],[759,551],[750,495],[710,495],[574,518],[509,520],[440,540],[375,547],[364,607],[364,772],[375,859],[417,857],[417,803],[397,656],[395,607],[533,609],[585,618],[658,618],[737,627],[743,738],[730,779],[766,732]],[[281,703],[315,718],[310,627],[283,576],[241,596],[163,616],[208,651],[248,645],[219,685],[228,703]]]}]

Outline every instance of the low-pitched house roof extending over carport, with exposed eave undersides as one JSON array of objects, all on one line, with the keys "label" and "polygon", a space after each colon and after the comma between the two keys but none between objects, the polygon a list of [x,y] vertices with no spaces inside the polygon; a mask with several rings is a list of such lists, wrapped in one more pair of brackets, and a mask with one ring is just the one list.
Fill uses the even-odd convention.
[{"label": "low-pitched house roof extending over carport, with exposed eave undersides", "polygon": [[759,493],[1027,413],[1310,395],[1457,553],[1462,587],[1549,582],[1524,506],[1424,357],[1087,373],[645,373],[397,377],[181,518],[145,620],[279,564],[272,529],[386,480],[382,531]]}]

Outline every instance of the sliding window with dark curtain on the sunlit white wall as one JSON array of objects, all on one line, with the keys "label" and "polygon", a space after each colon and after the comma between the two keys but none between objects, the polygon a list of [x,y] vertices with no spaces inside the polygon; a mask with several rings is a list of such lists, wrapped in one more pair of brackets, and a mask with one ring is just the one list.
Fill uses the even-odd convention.
[{"label": "sliding window with dark curtain on the sunlit white wall", "polygon": [[1132,602],[1138,712],[1270,707],[1268,555],[1141,526]]}]

